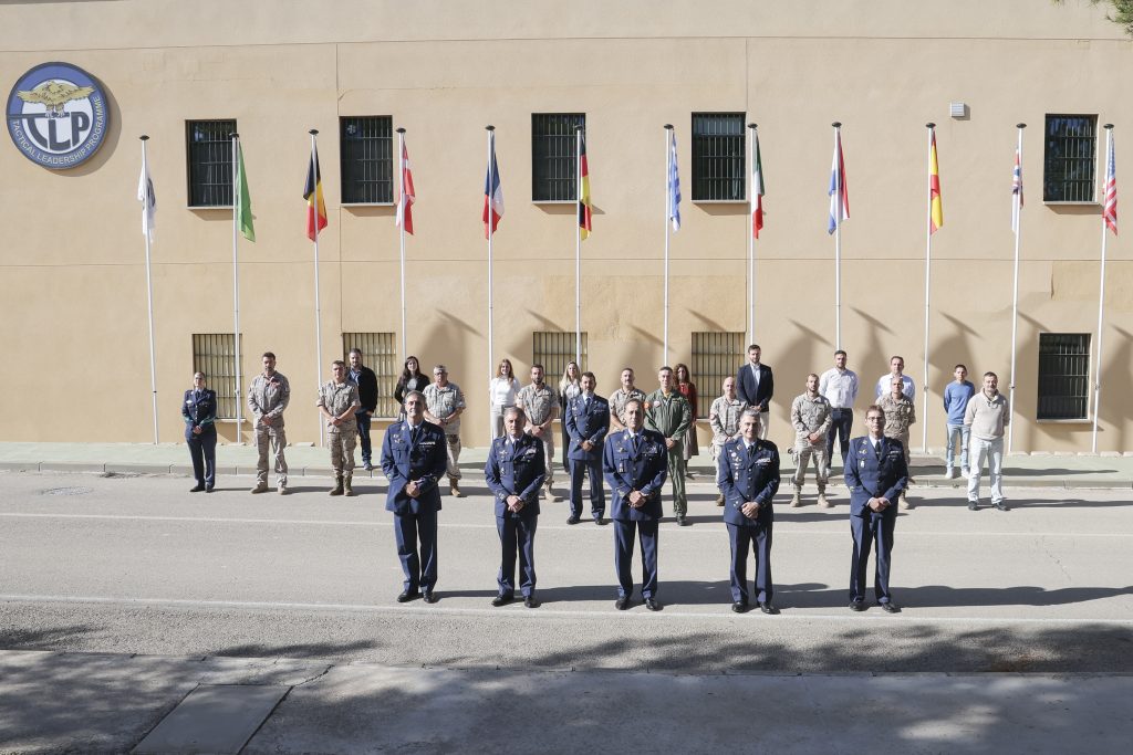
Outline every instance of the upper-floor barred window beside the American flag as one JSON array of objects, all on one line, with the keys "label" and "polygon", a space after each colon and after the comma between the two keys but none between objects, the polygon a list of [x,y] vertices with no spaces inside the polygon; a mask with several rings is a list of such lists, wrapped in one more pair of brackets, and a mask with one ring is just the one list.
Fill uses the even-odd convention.
[{"label": "upper-floor barred window beside the American flag", "polygon": [[1047,115],[1043,201],[1093,201],[1097,115]]}]

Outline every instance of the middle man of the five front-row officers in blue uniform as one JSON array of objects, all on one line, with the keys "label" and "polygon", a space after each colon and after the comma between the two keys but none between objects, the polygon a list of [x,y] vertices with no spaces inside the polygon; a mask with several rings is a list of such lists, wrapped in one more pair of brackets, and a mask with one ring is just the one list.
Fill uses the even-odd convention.
[{"label": "middle man of the five front-row officers in blue uniform", "polygon": [[661,489],[665,486],[668,454],[665,438],[645,429],[645,406],[637,398],[625,402],[625,429],[606,439],[602,469],[606,473],[614,520],[614,568],[617,601],[624,611],[633,600],[633,535],[641,540],[641,597],[645,607],[659,611],[657,602],[657,529],[661,523]]}]

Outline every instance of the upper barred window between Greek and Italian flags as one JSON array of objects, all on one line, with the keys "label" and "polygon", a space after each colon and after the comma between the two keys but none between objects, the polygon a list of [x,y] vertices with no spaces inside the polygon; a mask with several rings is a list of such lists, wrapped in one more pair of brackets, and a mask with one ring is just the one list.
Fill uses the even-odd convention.
[{"label": "upper barred window between Greek and Italian flags", "polygon": [[743,113],[692,113],[692,201],[742,201]]}]

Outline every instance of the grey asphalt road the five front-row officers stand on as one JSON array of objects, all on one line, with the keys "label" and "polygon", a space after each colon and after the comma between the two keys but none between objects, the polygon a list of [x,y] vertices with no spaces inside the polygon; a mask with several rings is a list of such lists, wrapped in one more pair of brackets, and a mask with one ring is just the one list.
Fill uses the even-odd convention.
[{"label": "grey asphalt road the five front-row officers stand on", "polygon": [[[250,496],[249,478],[189,495],[172,477],[0,473],[0,650],[326,659],[393,667],[715,674],[1133,671],[1127,491],[1012,491],[972,513],[928,491],[896,527],[897,616],[846,609],[850,529],[776,506],[780,616],[731,612],[715,491],[661,532],[665,609],[614,610],[613,532],[544,504],[543,606],[493,609],[492,501],[467,475],[441,513],[441,600],[393,598],[401,572],[384,488],[326,481]],[[811,490],[808,490],[812,492]],[[668,505],[666,504],[666,511]]]}]

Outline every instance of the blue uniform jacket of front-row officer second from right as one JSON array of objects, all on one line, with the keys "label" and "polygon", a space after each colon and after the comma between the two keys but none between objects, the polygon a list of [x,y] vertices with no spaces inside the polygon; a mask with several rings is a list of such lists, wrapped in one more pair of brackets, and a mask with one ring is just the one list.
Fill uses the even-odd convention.
[{"label": "blue uniform jacket of front-row officer second from right", "polygon": [[[724,444],[717,462],[716,484],[724,494],[724,521],[736,526],[767,526],[775,517],[772,499],[780,484],[778,448],[769,440],[756,440],[749,455],[743,438]],[[743,504],[759,504],[755,517],[744,516]]]}]

